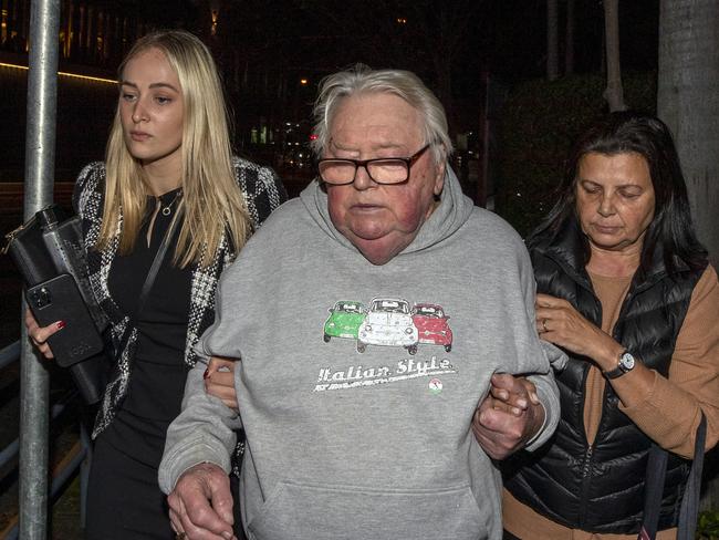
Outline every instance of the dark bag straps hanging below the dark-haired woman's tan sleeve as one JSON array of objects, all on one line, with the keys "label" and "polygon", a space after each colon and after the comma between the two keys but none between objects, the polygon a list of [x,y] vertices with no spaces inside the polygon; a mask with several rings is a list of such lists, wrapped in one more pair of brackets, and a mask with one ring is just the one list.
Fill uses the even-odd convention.
[{"label": "dark bag straps hanging below the dark-haired woman's tan sleeve", "polygon": [[[699,515],[699,496],[701,489],[701,470],[704,469],[704,447],[707,440],[707,418],[701,413],[701,422],[697,428],[695,439],[694,460],[687,486],[679,509],[677,525],[677,540],[694,540]],[[647,476],[644,498],[644,522],[637,540],[654,540],[657,534],[659,509],[661,507],[661,492],[667,472],[667,450],[653,444],[647,463]]]}]

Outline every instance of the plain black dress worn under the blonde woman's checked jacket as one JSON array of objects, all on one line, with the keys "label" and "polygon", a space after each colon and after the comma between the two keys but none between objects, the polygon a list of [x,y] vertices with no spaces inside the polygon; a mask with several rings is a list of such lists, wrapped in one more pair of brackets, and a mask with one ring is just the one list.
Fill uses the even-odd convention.
[{"label": "plain black dress worn under the blonde woman's checked jacket", "polygon": [[[117,256],[110,293],[138,329],[127,395],[115,419],[95,440],[87,494],[88,539],[174,538],[157,469],[170,422],[179,414],[188,367],[184,362],[190,307],[191,268],[171,263],[179,227],[145,305],[135,316],[149,267],[177,210],[179,189],[148,201],[135,248]],[[149,246],[147,230],[159,200]]]}]

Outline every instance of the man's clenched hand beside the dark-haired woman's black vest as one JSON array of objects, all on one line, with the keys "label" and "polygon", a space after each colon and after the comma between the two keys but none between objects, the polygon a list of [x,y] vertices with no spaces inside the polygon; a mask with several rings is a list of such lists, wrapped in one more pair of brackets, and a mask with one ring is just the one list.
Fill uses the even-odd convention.
[{"label": "man's clenched hand beside the dark-haired woman's black vest", "polygon": [[475,412],[472,432],[492,459],[504,459],[524,447],[542,427],[544,407],[534,385],[509,374],[492,375],[489,394]]}]

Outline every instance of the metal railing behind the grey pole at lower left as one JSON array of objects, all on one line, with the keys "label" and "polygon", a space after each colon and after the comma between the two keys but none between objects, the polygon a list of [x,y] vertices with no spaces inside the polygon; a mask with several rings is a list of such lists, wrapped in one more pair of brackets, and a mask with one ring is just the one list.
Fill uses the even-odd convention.
[{"label": "metal railing behind the grey pole at lower left", "polygon": [[[20,341],[15,341],[4,349],[0,350],[0,370],[10,366],[20,360],[21,352]],[[74,399],[76,392],[70,392],[60,403],[52,406],[50,411],[51,422],[58,419],[67,408],[70,401]],[[7,477],[13,468],[8,467],[17,457],[20,449],[20,439],[15,438],[0,450],[0,470],[4,470]],[[72,448],[65,454],[60,464],[55,467],[52,475],[52,485],[50,488],[50,499],[56,500],[69,485],[69,480],[80,469],[80,522],[85,521],[85,502],[87,492],[87,476],[90,471],[91,442],[90,435],[82,422],[80,422],[80,438]],[[4,479],[0,478],[0,480]],[[3,530],[0,530],[0,538],[6,540],[15,540],[19,536],[19,515],[11,518],[10,522]]]}]

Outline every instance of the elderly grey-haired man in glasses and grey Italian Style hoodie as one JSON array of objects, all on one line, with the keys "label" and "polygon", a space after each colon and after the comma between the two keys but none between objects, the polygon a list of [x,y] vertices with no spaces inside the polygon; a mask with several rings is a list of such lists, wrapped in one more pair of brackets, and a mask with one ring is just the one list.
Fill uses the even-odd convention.
[{"label": "elderly grey-haired man in glasses and grey Italian Style hoodie", "polygon": [[559,416],[523,243],[462,196],[444,110],[414,74],[332,75],[315,114],[320,179],[225,273],[199,345],[241,359],[240,415],[196,368],[168,432],[173,526],[231,538],[241,425],[250,538],[500,539],[491,458],[541,445]]}]

